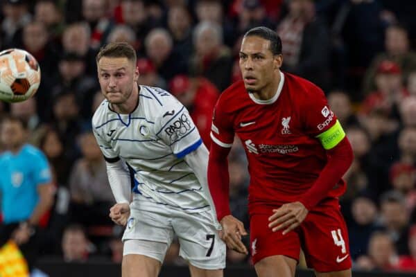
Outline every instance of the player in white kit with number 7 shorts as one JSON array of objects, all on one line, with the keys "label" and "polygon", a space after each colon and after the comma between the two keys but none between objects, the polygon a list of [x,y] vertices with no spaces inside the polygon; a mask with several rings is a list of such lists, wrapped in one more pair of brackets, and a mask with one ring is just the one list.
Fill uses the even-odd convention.
[{"label": "player in white kit with number 7 shorts", "polygon": [[207,186],[208,150],[176,98],[137,84],[136,60],[126,43],[107,44],[96,57],[106,99],[92,125],[116,199],[110,217],[126,226],[122,275],[157,276],[176,234],[191,276],[223,276],[225,244]]}]

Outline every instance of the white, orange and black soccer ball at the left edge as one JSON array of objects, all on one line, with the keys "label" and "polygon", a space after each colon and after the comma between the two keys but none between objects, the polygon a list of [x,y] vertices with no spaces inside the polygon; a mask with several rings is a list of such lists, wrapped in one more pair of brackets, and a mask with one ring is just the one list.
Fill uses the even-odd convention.
[{"label": "white, orange and black soccer ball at the left edge", "polygon": [[28,52],[12,48],[0,52],[0,100],[21,102],[39,88],[40,67]]}]

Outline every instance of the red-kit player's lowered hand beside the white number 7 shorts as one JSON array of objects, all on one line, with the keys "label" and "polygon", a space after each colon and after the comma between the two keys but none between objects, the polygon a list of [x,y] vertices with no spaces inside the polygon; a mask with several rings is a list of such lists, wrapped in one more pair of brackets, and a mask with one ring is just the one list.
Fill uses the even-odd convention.
[{"label": "red-kit player's lowered hand beside the white number 7 shorts", "polygon": [[220,224],[223,226],[223,230],[220,231],[220,238],[227,244],[227,247],[247,255],[247,248],[241,241],[241,236],[247,235],[243,222],[237,220],[232,215],[225,215]]}]

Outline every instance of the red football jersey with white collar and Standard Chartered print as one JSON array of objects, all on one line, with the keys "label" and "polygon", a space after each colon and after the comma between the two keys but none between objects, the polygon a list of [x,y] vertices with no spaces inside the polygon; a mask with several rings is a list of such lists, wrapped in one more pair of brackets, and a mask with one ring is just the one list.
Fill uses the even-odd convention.
[{"label": "red football jersey with white collar and Standard Chartered print", "polygon": [[[316,138],[336,123],[322,90],[295,75],[281,73],[277,93],[258,100],[243,81],[232,84],[218,99],[211,139],[231,147],[241,139],[250,173],[249,208],[294,202],[306,192],[327,163]],[[341,179],[328,196],[345,191]]]}]

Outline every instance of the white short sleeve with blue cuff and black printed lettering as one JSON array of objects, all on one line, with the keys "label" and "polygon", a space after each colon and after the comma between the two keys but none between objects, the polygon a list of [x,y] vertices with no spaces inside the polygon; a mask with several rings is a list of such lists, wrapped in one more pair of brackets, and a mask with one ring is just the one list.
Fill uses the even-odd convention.
[{"label": "white short sleeve with blue cuff and black printed lettering", "polygon": [[168,145],[177,158],[196,150],[202,140],[186,107],[176,99],[164,105],[155,123],[156,135]]}]

